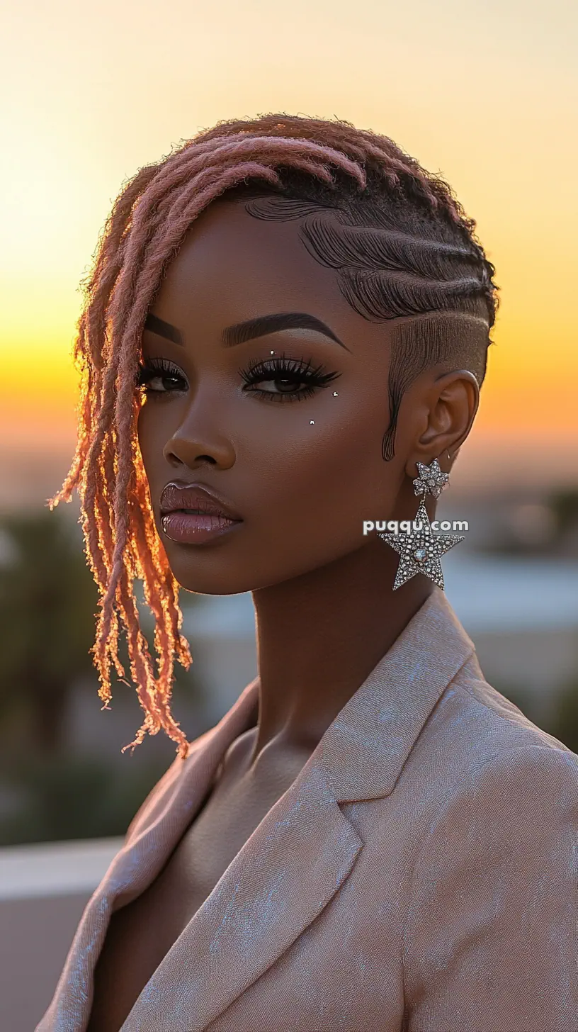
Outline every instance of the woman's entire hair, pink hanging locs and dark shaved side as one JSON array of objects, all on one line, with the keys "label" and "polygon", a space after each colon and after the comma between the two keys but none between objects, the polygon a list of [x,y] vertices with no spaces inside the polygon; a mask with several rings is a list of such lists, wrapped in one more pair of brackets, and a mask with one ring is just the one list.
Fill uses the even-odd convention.
[{"label": "woman's entire hair, pink hanging locs and dark shaved side", "polygon": [[[404,392],[430,364],[458,362],[481,384],[497,307],[487,260],[450,187],[387,136],[348,122],[287,115],[220,122],[147,165],[122,188],[101,233],[77,324],[78,436],[51,510],[77,488],[86,553],[99,588],[91,648],[108,707],[110,663],[120,677],[119,620],[145,720],[135,739],[161,729],[185,757],[189,743],[170,712],[173,665],[188,670],[179,584],[157,533],[137,439],[140,341],[162,279],[195,219],[218,198],[247,198],[261,219],[299,219],[309,252],[338,271],[359,315],[392,321],[390,422],[393,454]],[[155,618],[155,674],[139,624],[134,580]],[[124,751],[123,749],[123,751]]]}]

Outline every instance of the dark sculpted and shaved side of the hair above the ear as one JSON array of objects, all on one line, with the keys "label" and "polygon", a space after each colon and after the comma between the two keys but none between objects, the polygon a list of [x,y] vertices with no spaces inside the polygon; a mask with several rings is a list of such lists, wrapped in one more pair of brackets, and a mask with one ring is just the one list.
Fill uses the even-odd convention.
[{"label": "dark sculpted and shaved side of the hair above the ear", "polygon": [[284,169],[281,195],[248,184],[227,199],[245,197],[247,211],[258,219],[298,220],[304,247],[335,269],[355,312],[392,324],[389,423],[382,442],[389,461],[402,398],[421,373],[445,363],[470,369],[483,383],[497,287],[474,220],[443,181],[435,181],[430,197],[421,171],[414,179],[413,159],[394,184],[375,161],[365,162],[365,171],[361,192],[339,172],[329,192]]}]

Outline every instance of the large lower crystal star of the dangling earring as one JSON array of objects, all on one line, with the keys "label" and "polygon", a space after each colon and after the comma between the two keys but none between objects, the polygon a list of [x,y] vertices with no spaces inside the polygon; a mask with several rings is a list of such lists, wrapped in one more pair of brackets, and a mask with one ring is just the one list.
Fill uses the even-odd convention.
[{"label": "large lower crystal star of the dangling earring", "polygon": [[[446,474],[442,474],[442,476],[446,476]],[[415,577],[416,574],[424,574],[443,589],[444,575],[440,559],[442,555],[449,552],[450,548],[463,541],[464,535],[434,534],[423,498],[419,504],[414,522],[421,523],[421,530],[412,530],[410,534],[378,535],[400,555],[393,590]]]}]

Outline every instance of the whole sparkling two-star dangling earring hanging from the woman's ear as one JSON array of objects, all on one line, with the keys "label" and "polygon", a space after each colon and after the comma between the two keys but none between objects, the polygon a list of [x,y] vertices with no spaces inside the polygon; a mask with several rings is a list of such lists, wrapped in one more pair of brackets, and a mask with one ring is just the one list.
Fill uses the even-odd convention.
[{"label": "whole sparkling two-star dangling earring hanging from the woman's ear", "polygon": [[400,556],[393,590],[416,574],[424,574],[443,589],[444,575],[440,559],[450,548],[464,540],[463,534],[434,534],[425,509],[425,495],[428,493],[438,498],[449,482],[449,476],[442,472],[437,458],[429,465],[418,462],[417,467],[419,476],[414,480],[414,492],[421,494],[421,501],[414,517],[413,530],[409,534],[379,534]]}]

